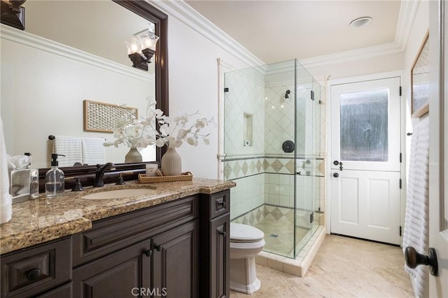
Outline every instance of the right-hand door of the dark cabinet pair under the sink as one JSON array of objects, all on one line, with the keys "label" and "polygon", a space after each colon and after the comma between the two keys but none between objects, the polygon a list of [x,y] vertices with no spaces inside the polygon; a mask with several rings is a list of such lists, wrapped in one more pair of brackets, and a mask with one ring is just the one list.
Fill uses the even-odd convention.
[{"label": "right-hand door of the dark cabinet pair under the sink", "polygon": [[153,237],[153,287],[166,297],[199,297],[199,220]]}]

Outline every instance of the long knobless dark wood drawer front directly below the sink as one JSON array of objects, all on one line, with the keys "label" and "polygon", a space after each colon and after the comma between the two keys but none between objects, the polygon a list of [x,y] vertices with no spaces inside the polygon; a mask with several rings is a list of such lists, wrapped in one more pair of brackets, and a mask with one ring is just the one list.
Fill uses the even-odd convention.
[{"label": "long knobless dark wood drawer front directly below the sink", "polygon": [[73,266],[130,246],[199,217],[199,195],[93,222],[73,235]]}]

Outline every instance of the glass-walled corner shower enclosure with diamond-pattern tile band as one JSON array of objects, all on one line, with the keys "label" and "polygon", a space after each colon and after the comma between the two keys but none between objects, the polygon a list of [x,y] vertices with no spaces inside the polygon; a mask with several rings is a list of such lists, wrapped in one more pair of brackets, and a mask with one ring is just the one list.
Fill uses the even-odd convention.
[{"label": "glass-walled corner shower enclosure with diamond-pattern tile band", "polygon": [[323,225],[324,89],[297,60],[224,74],[223,176],[232,222],[295,258]]}]

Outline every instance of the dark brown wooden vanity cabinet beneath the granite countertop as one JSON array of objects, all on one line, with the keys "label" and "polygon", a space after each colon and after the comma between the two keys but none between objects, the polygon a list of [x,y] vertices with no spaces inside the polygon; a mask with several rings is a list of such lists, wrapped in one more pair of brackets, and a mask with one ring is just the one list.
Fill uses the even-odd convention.
[{"label": "dark brown wooden vanity cabinet beneath the granite countertop", "polygon": [[229,199],[197,194],[2,255],[1,297],[229,297]]}]

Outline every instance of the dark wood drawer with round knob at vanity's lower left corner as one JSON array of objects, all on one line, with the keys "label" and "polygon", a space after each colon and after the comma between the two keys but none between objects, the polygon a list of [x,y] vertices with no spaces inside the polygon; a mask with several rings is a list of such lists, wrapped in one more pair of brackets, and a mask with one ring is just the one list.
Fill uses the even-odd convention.
[{"label": "dark wood drawer with round knob at vanity's lower left corner", "polygon": [[70,279],[70,238],[1,256],[1,297],[31,297]]}]

